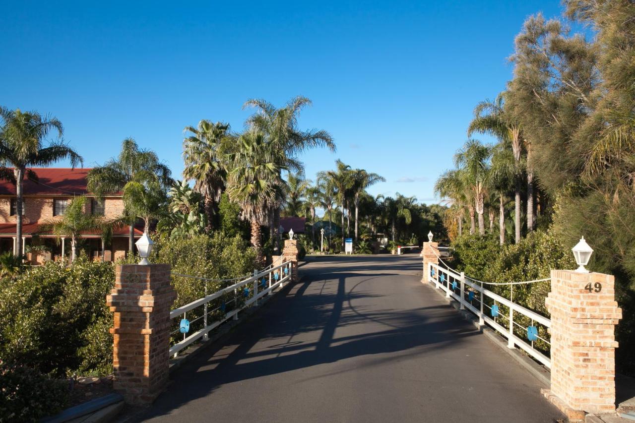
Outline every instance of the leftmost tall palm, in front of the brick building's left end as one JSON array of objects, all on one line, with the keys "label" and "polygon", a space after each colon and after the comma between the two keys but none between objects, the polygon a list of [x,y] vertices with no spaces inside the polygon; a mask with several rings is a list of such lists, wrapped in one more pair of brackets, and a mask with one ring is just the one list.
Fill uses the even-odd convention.
[{"label": "leftmost tall palm, in front of the brick building's left end", "polygon": [[[75,168],[83,164],[83,159],[77,152],[64,144],[62,140],[50,142],[44,147],[44,138],[50,131],[57,131],[59,137],[64,134],[62,123],[55,117],[42,116],[37,112],[22,112],[20,109],[11,111],[0,106],[0,165],[4,168],[13,167],[12,180],[15,180],[16,213],[15,213],[15,242],[16,252],[22,251],[22,186],[25,177],[37,180],[37,174],[29,170],[32,166],[50,166],[51,164],[68,159],[70,166]],[[7,177],[6,170],[0,171],[0,177]]]}]

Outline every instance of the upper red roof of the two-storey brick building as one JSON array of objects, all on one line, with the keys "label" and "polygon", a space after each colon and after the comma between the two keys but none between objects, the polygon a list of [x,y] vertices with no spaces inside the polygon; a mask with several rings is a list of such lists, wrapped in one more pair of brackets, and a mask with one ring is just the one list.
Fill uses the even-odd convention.
[{"label": "upper red roof of the two-storey brick building", "polygon": [[[73,196],[87,194],[86,175],[90,168],[30,168],[38,182],[25,178],[24,195]],[[0,180],[0,196],[15,196],[15,184]]]}]

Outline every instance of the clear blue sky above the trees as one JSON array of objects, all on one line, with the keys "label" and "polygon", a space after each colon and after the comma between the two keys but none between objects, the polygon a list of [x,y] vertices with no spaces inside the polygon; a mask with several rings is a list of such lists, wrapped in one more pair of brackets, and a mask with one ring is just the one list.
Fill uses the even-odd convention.
[{"label": "clear blue sky above the trees", "polygon": [[340,158],[387,179],[372,194],[425,203],[474,105],[511,77],[525,18],[560,13],[557,0],[86,4],[5,2],[0,14],[0,104],[57,116],[84,166],[133,137],[180,177],[184,126],[241,130],[248,98],[304,95],[300,126],[338,146],[304,154],[308,178]]}]

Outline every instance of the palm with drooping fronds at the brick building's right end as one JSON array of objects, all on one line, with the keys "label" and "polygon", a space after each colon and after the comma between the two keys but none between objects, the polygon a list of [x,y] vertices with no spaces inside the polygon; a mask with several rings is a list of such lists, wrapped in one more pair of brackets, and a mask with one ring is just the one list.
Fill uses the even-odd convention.
[{"label": "palm with drooping fronds at the brick building's right end", "polygon": [[[88,191],[98,198],[117,192],[126,193],[124,215],[128,220],[128,251],[135,252],[135,222],[144,215],[146,223],[152,218],[152,206],[166,199],[158,191],[167,191],[174,181],[168,166],[159,161],[154,151],[140,149],[133,138],[121,142],[121,152],[102,166],[96,166],[86,175]],[[135,196],[139,196],[135,198]],[[144,205],[145,202],[145,205]],[[145,210],[144,210],[145,209]],[[160,215],[157,214],[156,217]]]}]

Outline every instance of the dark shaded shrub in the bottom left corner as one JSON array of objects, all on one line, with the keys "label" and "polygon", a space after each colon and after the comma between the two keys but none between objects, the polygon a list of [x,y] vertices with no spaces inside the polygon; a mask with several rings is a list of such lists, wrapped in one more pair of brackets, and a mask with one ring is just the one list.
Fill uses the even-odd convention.
[{"label": "dark shaded shrub in the bottom left corner", "polygon": [[67,382],[3,360],[0,393],[0,422],[36,422],[62,411],[69,401]]}]

